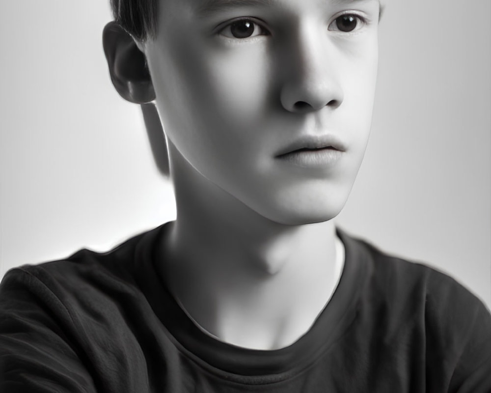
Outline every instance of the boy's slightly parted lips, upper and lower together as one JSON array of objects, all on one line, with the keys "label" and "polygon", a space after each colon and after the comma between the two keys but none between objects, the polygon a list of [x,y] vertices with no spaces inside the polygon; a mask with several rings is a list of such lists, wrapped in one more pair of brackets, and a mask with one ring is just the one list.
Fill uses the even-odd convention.
[{"label": "boy's slightly parted lips, upper and lower together", "polygon": [[300,167],[331,167],[336,164],[346,145],[332,135],[306,136],[287,145],[275,156]]}]

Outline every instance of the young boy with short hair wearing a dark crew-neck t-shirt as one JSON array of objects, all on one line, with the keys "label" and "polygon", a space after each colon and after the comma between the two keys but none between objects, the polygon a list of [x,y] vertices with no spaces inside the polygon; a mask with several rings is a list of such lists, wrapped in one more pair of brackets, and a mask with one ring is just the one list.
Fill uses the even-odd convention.
[{"label": "young boy with short hair wearing a dark crew-neck t-shirt", "polygon": [[368,140],[379,1],[111,5],[111,79],[155,103],[177,220],[11,270],[1,392],[491,392],[483,304],[331,220]]}]

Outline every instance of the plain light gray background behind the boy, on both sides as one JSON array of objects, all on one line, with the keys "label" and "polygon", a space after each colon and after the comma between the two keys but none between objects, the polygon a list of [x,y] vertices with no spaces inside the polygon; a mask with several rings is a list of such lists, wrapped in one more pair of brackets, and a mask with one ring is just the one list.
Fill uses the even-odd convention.
[{"label": "plain light gray background behind the boy, on both sides", "polygon": [[[113,90],[106,0],[0,3],[0,275],[174,218],[138,106]],[[387,0],[372,137],[338,223],[491,306],[489,0]]]}]

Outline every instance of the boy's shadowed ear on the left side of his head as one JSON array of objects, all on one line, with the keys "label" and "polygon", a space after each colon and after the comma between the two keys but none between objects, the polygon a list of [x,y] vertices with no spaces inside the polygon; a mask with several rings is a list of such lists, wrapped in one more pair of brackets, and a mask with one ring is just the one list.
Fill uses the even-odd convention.
[{"label": "boy's shadowed ear on the left side of his head", "polygon": [[137,104],[153,101],[155,91],[146,58],[133,37],[116,22],[109,22],[102,43],[111,81],[119,95]]}]

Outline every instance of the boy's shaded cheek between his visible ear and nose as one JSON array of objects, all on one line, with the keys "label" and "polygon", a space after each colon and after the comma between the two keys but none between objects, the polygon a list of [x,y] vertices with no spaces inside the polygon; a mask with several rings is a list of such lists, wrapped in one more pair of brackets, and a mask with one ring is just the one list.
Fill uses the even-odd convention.
[{"label": "boy's shaded cheek between his visible ear and nose", "polygon": [[167,137],[194,168],[216,179],[258,161],[269,67],[257,47],[203,47],[176,43],[149,61]]}]

